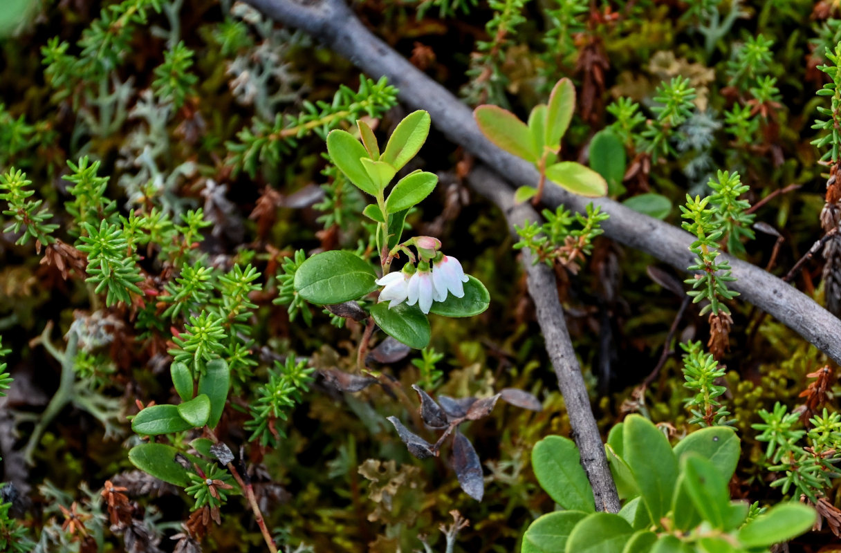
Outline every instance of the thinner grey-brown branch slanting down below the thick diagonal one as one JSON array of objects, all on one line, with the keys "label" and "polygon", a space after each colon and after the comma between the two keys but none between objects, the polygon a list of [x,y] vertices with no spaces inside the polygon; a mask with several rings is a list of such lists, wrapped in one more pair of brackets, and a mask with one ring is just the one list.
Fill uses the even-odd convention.
[{"label": "thinner grey-brown branch slanting down below the thick diagonal one", "polygon": [[[514,196],[493,172],[477,167],[468,176],[468,184],[505,213],[505,221],[511,234],[514,225],[521,227],[527,221],[540,222],[540,216],[530,203],[514,203]],[[534,264],[534,256],[527,248],[522,250],[523,268],[528,276],[528,291],[537,309],[537,323],[546,340],[546,350],[552,360],[558,387],[563,395],[569,415],[569,426],[573,440],[581,454],[581,465],[593,487],[595,508],[608,513],[618,513],[621,508],[616,484],[607,466],[605,446],[601,441],[599,427],[595,423],[587,385],[581,375],[581,367],[575,356],[572,340],[569,339],[563,307],[558,299],[558,283],[555,273],[543,263]]]}]

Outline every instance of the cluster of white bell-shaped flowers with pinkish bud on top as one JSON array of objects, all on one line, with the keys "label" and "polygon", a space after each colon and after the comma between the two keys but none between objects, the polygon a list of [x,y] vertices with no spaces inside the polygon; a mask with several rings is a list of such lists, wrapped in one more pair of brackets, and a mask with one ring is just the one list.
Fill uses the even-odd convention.
[{"label": "cluster of white bell-shaped flowers with pinkish bud on top", "polygon": [[[378,301],[390,301],[389,309],[403,302],[417,303],[422,312],[429,313],[432,302],[443,302],[447,292],[463,298],[464,282],[468,282],[468,277],[458,259],[437,251],[441,242],[429,236],[419,236],[406,245],[410,243],[418,250],[417,266],[407,263],[402,271],[389,272],[379,278],[376,282],[383,290]],[[413,257],[408,249],[404,250]]]}]

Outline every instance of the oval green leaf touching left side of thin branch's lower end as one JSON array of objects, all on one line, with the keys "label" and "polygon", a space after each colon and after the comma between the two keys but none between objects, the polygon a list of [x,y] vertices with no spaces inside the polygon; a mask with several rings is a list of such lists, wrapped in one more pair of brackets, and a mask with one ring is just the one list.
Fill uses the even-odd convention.
[{"label": "oval green leaf touching left side of thin branch's lower end", "polygon": [[593,513],[593,488],[581,466],[573,440],[547,436],[532,449],[532,468],[537,482],[563,508]]}]

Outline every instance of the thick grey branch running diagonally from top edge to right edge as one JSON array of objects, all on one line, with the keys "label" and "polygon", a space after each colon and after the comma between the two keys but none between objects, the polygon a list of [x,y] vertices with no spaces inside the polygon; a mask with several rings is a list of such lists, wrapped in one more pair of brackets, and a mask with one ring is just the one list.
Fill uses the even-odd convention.
[{"label": "thick grey branch running diagonally from top edge to right edge", "polygon": [[[473,121],[473,113],[446,88],[418,71],[402,55],[374,36],[341,0],[299,3],[295,0],[245,0],[282,24],[303,29],[351,60],[370,76],[387,76],[399,88],[400,98],[413,108],[426,109],[432,124],[454,143],[463,145],[517,186],[535,186],[537,171],[528,162],[506,154],[492,145]],[[510,193],[510,190],[506,191]],[[689,245],[693,237],[659,219],[637,213],[609,198],[590,200],[549,186],[543,202],[552,207],[584,211],[592,201],[611,218],[601,226],[612,240],[631,246],[669,263],[680,271],[690,266]],[[806,294],[770,273],[745,261],[722,254],[730,261],[733,277],[730,287],[816,345],[833,361],[841,363],[841,320],[817,305]]]}]

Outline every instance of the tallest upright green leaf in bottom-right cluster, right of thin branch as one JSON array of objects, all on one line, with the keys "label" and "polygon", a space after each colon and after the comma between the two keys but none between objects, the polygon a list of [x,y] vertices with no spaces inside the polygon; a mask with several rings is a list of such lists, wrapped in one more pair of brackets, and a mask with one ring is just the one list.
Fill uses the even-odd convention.
[{"label": "tallest upright green leaf in bottom-right cluster, right of thin branch", "polygon": [[659,521],[669,511],[678,461],[669,440],[654,424],[632,414],[622,424],[624,459],[637,482],[651,519]]}]

